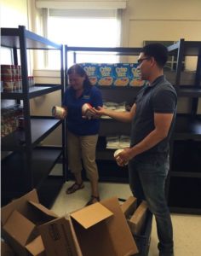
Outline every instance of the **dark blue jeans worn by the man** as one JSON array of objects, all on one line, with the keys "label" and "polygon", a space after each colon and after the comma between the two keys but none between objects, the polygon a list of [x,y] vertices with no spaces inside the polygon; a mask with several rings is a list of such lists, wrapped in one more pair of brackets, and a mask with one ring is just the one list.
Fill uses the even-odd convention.
[{"label": "dark blue jeans worn by the man", "polygon": [[138,201],[146,200],[155,215],[160,253],[173,253],[173,230],[164,185],[169,172],[169,158],[163,164],[158,160],[129,161],[129,186]]}]

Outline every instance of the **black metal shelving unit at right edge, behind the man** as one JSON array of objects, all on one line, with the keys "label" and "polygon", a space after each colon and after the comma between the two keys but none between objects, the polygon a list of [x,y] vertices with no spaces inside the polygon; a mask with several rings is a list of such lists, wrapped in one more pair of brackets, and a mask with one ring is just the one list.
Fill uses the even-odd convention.
[{"label": "black metal shelving unit at right edge, behind the man", "polygon": [[[168,201],[171,212],[201,213],[201,42],[181,39],[169,46],[169,54],[177,55],[175,86],[178,96],[191,100],[191,113],[177,114],[169,173]],[[182,60],[196,57],[196,70],[191,85],[181,82]]]}]

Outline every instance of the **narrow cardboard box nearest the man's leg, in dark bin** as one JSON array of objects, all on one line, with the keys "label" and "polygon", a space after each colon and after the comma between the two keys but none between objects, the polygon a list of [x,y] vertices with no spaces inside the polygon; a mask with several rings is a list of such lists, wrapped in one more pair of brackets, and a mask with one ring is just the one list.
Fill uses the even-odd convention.
[{"label": "narrow cardboard box nearest the man's leg, in dark bin", "polygon": [[147,210],[148,207],[146,201],[142,201],[140,206],[137,207],[137,209],[135,210],[133,216],[131,216],[131,218],[127,220],[129,228],[133,235],[141,234],[141,230],[143,229],[143,226],[146,221]]}]

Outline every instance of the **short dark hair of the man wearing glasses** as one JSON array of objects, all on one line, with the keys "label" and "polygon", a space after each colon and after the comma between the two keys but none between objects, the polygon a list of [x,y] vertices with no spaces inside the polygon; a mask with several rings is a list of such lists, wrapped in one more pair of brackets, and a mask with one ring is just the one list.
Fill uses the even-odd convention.
[{"label": "short dark hair of the man wearing glasses", "polygon": [[168,49],[164,44],[147,44],[141,49],[141,52],[148,57],[153,57],[157,61],[158,67],[164,67],[164,64],[168,61]]}]

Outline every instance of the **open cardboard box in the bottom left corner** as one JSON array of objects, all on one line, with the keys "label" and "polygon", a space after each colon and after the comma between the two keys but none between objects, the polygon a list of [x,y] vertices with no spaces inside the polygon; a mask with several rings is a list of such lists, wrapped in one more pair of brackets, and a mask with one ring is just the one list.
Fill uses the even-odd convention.
[{"label": "open cardboard box in the bottom left corner", "polygon": [[2,235],[20,256],[45,255],[37,225],[57,218],[54,212],[39,204],[37,191],[12,201],[1,209]]}]

